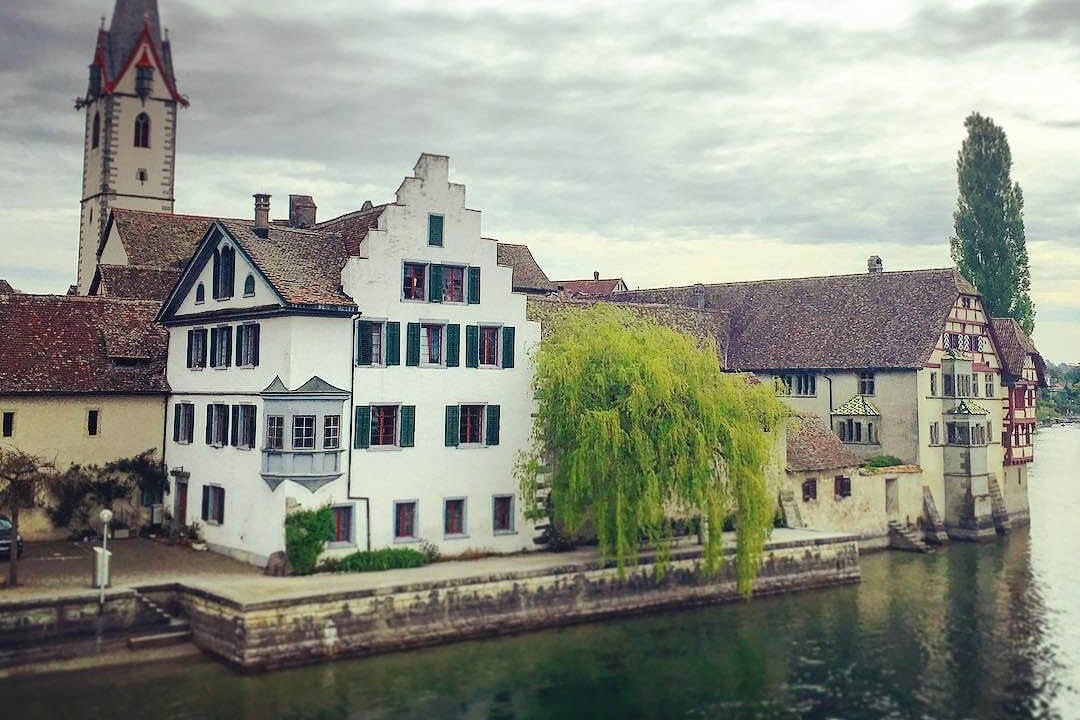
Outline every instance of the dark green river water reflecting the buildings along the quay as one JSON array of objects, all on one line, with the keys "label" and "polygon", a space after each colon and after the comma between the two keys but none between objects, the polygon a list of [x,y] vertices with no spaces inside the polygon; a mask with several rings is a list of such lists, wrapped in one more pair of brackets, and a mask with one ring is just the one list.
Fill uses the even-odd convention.
[{"label": "dark green river water reflecting the buildings along the quay", "polygon": [[1080,426],[1036,452],[1030,531],[867,556],[858,586],[261,676],[0,681],[0,717],[1080,718]]}]

